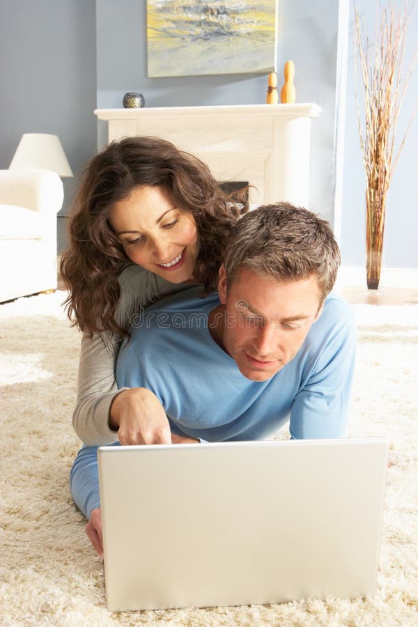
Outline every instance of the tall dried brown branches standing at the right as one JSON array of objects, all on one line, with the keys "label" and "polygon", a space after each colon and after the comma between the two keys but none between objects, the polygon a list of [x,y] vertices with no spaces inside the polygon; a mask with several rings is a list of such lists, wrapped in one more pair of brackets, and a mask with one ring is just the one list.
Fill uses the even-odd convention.
[{"label": "tall dried brown branches standing at the right", "polygon": [[[412,10],[415,10],[415,6],[408,10],[408,0],[403,1],[403,8],[399,11],[396,10],[395,0],[388,0],[387,5],[380,6],[380,9],[376,0],[372,45],[369,43],[366,25],[359,17],[356,3],[354,8],[355,96],[357,127],[366,173],[366,249],[369,277],[371,265],[378,264],[380,274],[386,195],[418,108],[417,100],[405,134],[395,150],[398,118],[417,63],[418,50],[404,75],[405,40]],[[357,84],[361,87],[363,107],[360,106]]]}]

